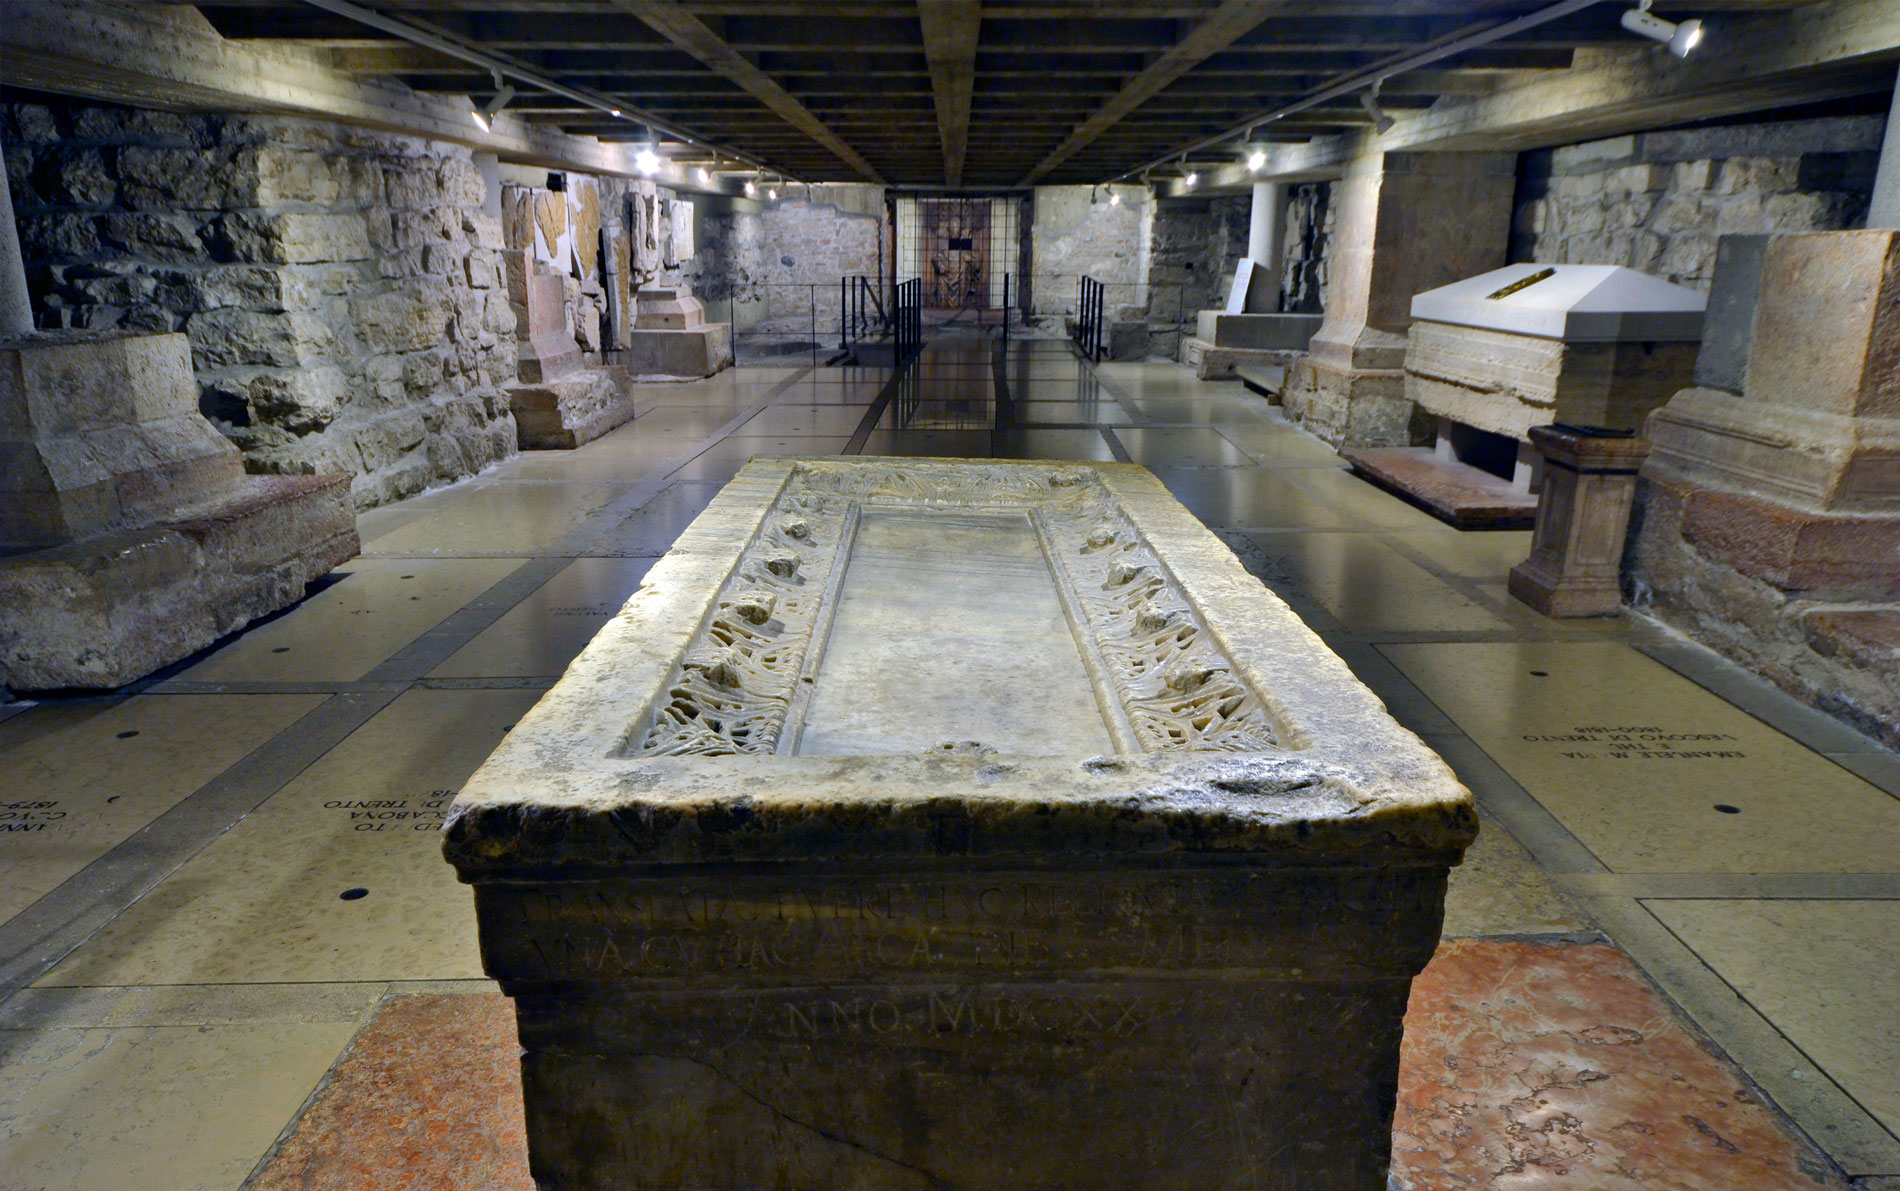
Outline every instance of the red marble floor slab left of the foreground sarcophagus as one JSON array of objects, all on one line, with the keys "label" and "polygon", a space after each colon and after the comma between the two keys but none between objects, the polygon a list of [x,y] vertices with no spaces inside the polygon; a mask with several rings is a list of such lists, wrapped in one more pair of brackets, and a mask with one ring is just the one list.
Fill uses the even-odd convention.
[{"label": "red marble floor slab left of the foreground sarcophagus", "polygon": [[247,1191],[534,1191],[515,1005],[391,997]]}]

